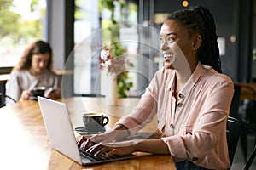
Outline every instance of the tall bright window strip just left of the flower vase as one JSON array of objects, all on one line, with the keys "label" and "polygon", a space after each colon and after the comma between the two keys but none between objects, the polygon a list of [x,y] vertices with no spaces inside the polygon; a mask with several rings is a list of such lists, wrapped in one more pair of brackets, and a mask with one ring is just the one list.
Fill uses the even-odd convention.
[{"label": "tall bright window strip just left of the flower vase", "polygon": [[100,28],[98,1],[76,0],[74,15],[74,94],[93,94],[96,64],[91,56],[100,47],[94,32]]}]

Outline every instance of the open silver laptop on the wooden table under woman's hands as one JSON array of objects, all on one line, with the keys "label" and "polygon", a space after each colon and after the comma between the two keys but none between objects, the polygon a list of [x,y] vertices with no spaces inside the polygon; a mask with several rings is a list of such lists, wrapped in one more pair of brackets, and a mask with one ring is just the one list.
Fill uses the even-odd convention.
[{"label": "open silver laptop on the wooden table under woman's hands", "polygon": [[80,165],[93,165],[136,157],[134,155],[129,155],[113,156],[111,158],[101,156],[96,158],[82,150],[79,150],[73,132],[73,126],[69,118],[67,105],[39,96],[38,103],[51,146],[55,150],[58,150],[65,156],[71,158],[73,161],[77,161]]}]

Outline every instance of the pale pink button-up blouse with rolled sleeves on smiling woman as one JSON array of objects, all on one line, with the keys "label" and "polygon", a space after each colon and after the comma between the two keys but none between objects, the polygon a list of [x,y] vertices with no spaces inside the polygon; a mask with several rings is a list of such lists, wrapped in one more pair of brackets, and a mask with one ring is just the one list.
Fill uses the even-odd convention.
[{"label": "pale pink button-up blouse with rolled sleeves on smiling woman", "polygon": [[161,138],[175,161],[189,160],[208,169],[230,167],[226,122],[234,93],[230,77],[212,67],[196,66],[188,82],[174,96],[176,71],[157,71],[130,116],[117,122],[137,133],[157,115]]}]

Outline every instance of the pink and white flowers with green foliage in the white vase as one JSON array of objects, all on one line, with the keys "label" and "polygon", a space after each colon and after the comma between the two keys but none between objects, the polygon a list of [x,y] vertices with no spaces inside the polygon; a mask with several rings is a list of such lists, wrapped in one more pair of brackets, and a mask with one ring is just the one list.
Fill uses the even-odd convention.
[{"label": "pink and white flowers with green foliage in the white vase", "polygon": [[[133,64],[121,55],[114,55],[117,53],[124,54],[125,48],[122,48],[121,51],[117,52],[114,50],[113,46],[106,46],[102,48],[101,55],[99,57],[100,71],[107,69],[108,74],[115,74],[117,77],[118,83],[118,98],[127,98],[127,93],[133,86],[133,83],[130,82],[128,75],[128,68],[133,67]],[[120,48],[118,48],[120,49]]]}]

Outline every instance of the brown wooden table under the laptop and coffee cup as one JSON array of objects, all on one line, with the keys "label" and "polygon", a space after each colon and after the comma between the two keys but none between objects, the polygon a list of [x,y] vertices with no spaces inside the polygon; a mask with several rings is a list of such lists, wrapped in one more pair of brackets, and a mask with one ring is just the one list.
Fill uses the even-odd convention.
[{"label": "brown wooden table under the laptop and coffee cup", "polygon": [[[104,99],[63,99],[70,111],[74,127],[81,126],[84,112],[104,112],[110,117],[109,127],[119,116],[129,114],[138,99],[119,100],[119,106],[104,105]],[[145,127],[155,130],[156,123]],[[0,109],[0,169],[82,170],[82,169],[175,169],[172,156],[149,155],[131,160],[113,161],[95,166],[82,167],[63,156],[49,145],[38,101],[19,101]]]}]

